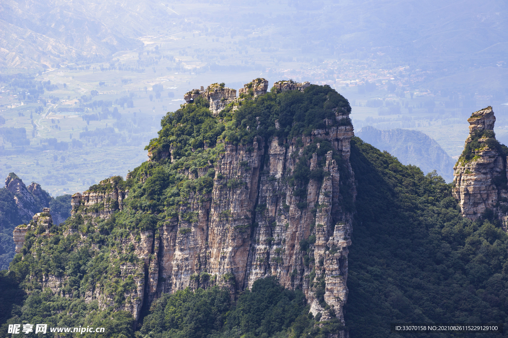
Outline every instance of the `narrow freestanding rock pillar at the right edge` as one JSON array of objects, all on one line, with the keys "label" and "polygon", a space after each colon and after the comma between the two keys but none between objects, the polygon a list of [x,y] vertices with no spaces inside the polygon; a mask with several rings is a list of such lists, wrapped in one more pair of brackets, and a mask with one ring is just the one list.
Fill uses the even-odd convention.
[{"label": "narrow freestanding rock pillar at the right edge", "polygon": [[507,224],[506,151],[494,135],[492,107],[473,112],[469,136],[454,167],[454,195],[464,217],[475,220],[494,213]]}]

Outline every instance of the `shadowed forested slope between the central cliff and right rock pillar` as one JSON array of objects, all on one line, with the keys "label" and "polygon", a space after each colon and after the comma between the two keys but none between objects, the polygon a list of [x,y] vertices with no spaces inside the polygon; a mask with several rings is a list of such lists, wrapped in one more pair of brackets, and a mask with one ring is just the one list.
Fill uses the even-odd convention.
[{"label": "shadowed forested slope between the central cliff and right rock pillar", "polygon": [[[359,138],[351,164],[358,196],[344,310],[350,336],[397,336],[390,323],[506,325],[508,235],[499,222],[463,218],[452,184]],[[404,334],[411,336],[439,335]]]}]

